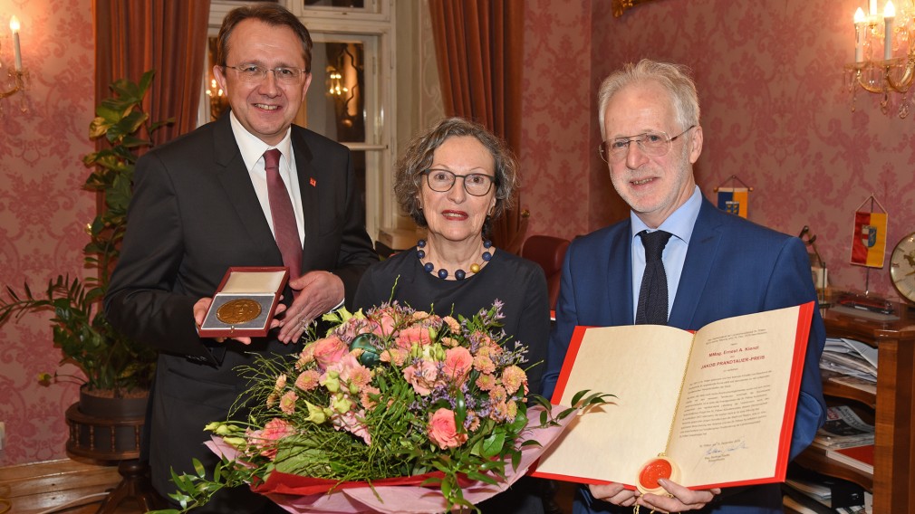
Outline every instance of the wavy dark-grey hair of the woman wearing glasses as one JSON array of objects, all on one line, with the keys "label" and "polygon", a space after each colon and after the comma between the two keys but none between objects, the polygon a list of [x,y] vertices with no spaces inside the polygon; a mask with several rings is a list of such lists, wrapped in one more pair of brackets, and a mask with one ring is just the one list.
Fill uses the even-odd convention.
[{"label": "wavy dark-grey hair of the woman wearing glasses", "polygon": [[[404,212],[420,227],[427,226],[423,210],[416,198],[423,186],[422,173],[432,166],[436,149],[449,137],[469,135],[477,139],[492,155],[495,164],[496,205],[491,218],[499,218],[511,209],[519,187],[518,161],[505,142],[479,123],[463,118],[446,118],[407,145],[394,171],[394,196]],[[483,223],[483,233],[490,231],[490,219]]]}]

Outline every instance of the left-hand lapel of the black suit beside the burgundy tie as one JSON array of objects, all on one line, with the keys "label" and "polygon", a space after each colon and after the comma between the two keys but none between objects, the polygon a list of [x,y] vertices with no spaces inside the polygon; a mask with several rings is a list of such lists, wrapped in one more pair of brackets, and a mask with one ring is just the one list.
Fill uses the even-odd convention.
[{"label": "left-hand lapel of the black suit beside the burgundy tie", "polygon": [[254,193],[251,177],[244,166],[242,153],[235,143],[231,131],[229,112],[225,112],[213,127],[213,155],[216,162],[217,177],[226,192],[230,205],[242,220],[242,226],[253,245],[262,248],[273,247],[276,256],[282,262],[279,248],[276,247],[270,226],[264,219],[264,209]]}]

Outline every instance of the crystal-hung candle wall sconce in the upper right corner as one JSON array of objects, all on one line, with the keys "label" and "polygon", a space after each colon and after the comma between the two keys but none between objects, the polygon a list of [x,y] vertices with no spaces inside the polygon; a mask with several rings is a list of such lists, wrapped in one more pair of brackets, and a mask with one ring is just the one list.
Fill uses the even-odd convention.
[{"label": "crystal-hung candle wall sconce in the upper right corner", "polygon": [[[860,87],[883,95],[880,111],[884,114],[889,113],[891,93],[899,93],[899,118],[909,115],[911,105],[906,92],[915,77],[915,47],[910,41],[915,37],[915,5],[912,0],[896,1],[899,7],[887,0],[882,13],[877,11],[877,0],[869,0],[867,16],[860,7],[855,12],[855,62],[845,65],[848,90],[852,92],[852,112],[855,93]],[[903,52],[902,57],[893,57]]]}]

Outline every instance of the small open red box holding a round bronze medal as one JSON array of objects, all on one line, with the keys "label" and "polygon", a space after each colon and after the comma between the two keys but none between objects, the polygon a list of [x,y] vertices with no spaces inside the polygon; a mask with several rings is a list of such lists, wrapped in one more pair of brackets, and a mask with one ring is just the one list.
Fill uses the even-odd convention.
[{"label": "small open red box holding a round bronze medal", "polygon": [[266,336],[287,280],[289,269],[282,266],[229,268],[213,295],[199,336]]}]

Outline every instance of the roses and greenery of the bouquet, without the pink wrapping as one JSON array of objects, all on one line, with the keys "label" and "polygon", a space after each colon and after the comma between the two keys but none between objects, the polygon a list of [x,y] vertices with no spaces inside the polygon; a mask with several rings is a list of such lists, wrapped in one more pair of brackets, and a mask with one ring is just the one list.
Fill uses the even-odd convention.
[{"label": "roses and greenery of the bouquet, without the pink wrapping", "polygon": [[[523,387],[501,389],[511,381],[505,378],[508,369],[515,368],[511,374],[520,371],[516,365],[524,350],[506,349],[504,341],[500,344],[498,307],[472,318],[447,317],[396,304],[376,307],[365,315],[361,311],[350,315],[341,309],[324,316],[335,325],[327,337],[318,338],[312,332],[301,354],[254,356],[249,366],[237,369],[250,386],[237,399],[230,416],[246,421],[214,422],[206,427],[234,448],[230,455],[237,455],[223,457],[212,477],[202,471],[173,477],[178,491],[169,496],[181,510],[168,512],[199,507],[221,487],[266,482],[274,471],[338,485],[367,482],[370,487],[383,478],[437,472],[423,485],[439,487],[448,510],[475,509],[464,498],[462,484],[467,480],[497,484],[506,477],[508,464],[519,466],[523,446],[540,444],[532,438],[531,429],[538,425],[529,423],[532,411],[525,401],[544,407],[541,428],[557,426],[573,412],[606,402],[607,394],[582,391],[571,408],[554,412],[550,402],[525,395]],[[385,323],[390,325],[382,328]],[[370,360],[374,362],[370,385],[359,378],[365,376],[361,371],[369,370],[355,365],[366,352],[366,336],[376,345],[373,353],[382,357],[381,361]],[[346,348],[349,361],[342,356]],[[456,360],[452,361],[457,366],[453,374],[445,372],[446,348],[468,348],[468,355],[472,350],[479,369],[476,365],[460,368]],[[399,361],[398,351],[408,352],[409,357]],[[318,362],[318,354],[324,364]],[[487,359],[492,359],[491,368]],[[428,389],[418,388],[406,378],[406,367],[424,362],[437,362],[442,370],[434,385],[426,384]],[[318,374],[319,385],[314,381]],[[481,380],[483,375],[488,380]],[[499,414],[507,403],[516,411]],[[430,434],[430,416],[439,409],[453,409],[454,427],[465,441],[448,447],[436,444]],[[357,424],[371,434],[371,443],[363,440],[360,430],[341,425],[348,423],[346,415],[353,412]]]}]

